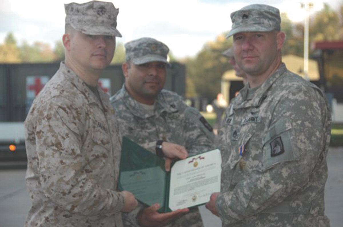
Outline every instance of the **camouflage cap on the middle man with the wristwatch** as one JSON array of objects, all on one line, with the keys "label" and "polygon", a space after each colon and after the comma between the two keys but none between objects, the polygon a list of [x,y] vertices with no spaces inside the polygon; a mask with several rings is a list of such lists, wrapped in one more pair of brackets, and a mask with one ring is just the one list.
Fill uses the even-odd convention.
[{"label": "camouflage cap on the middle man with the wristwatch", "polygon": [[134,64],[144,64],[151,61],[167,61],[169,48],[164,43],[149,37],[129,41],[125,44],[126,61]]}]

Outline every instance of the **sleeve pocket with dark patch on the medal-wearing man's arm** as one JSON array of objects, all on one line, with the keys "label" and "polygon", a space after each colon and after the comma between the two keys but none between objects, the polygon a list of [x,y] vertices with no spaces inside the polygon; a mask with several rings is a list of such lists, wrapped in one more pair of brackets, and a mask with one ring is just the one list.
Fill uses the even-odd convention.
[{"label": "sleeve pocket with dark patch on the medal-wearing man's arm", "polygon": [[262,170],[267,170],[282,162],[298,160],[291,141],[294,133],[291,121],[287,118],[273,124],[263,138]]}]

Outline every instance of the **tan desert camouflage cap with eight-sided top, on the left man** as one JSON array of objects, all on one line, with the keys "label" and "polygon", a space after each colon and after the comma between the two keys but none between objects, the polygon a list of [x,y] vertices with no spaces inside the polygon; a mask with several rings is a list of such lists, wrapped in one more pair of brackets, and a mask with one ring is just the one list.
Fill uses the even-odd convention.
[{"label": "tan desert camouflage cap with eight-sided top, on the left man", "polygon": [[121,37],[117,30],[119,10],[111,2],[90,1],[64,4],[66,24],[87,35]]}]

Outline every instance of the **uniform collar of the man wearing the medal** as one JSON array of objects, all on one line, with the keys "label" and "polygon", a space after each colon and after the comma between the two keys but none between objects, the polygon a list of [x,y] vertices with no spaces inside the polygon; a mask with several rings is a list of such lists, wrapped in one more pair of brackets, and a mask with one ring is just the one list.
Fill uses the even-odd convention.
[{"label": "uniform collar of the man wearing the medal", "polygon": [[263,100],[267,98],[267,92],[269,91],[270,87],[286,71],[286,65],[284,63],[281,63],[280,67],[271,76],[268,77],[268,79],[260,86],[259,89],[256,90],[255,95],[252,99],[247,99],[249,89],[249,84],[247,84],[243,89],[239,91],[237,101],[238,103],[240,103],[240,105],[238,105],[237,108],[248,106],[259,107]]}]

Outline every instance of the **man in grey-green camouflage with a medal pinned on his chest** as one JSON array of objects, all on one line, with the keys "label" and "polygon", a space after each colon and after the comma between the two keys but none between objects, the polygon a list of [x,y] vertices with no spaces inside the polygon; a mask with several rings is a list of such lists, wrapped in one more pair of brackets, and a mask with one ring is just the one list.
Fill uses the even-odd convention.
[{"label": "man in grey-green camouflage with a medal pinned on his chest", "polygon": [[279,10],[231,14],[235,60],[248,84],[220,130],[221,192],[206,207],[223,226],[329,226],[324,214],[331,115],[321,90],[287,70]]}]

